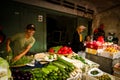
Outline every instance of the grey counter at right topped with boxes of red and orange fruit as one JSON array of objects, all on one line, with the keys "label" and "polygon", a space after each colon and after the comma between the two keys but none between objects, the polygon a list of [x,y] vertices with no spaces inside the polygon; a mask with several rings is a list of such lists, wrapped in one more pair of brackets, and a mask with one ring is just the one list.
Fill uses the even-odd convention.
[{"label": "grey counter at right topped with boxes of red and orange fruit", "polygon": [[91,42],[87,44],[86,58],[100,65],[100,69],[113,74],[113,66],[120,63],[118,45],[105,42]]}]

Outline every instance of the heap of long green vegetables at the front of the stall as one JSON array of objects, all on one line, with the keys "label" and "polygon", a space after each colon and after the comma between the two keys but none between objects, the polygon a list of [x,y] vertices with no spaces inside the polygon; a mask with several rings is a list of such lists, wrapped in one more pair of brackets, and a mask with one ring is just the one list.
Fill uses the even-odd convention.
[{"label": "heap of long green vegetables at the front of the stall", "polygon": [[[25,70],[24,73],[26,73],[26,71],[29,71],[29,73],[32,74],[31,76],[28,76],[29,79],[27,80],[66,80],[67,78],[72,78],[74,76],[73,74],[80,72],[79,70],[75,70],[73,64],[63,60],[61,57],[58,57],[55,61],[47,63],[42,68],[28,69]],[[14,79],[16,79],[16,77],[14,76]],[[21,78],[17,80],[21,80]]]}]

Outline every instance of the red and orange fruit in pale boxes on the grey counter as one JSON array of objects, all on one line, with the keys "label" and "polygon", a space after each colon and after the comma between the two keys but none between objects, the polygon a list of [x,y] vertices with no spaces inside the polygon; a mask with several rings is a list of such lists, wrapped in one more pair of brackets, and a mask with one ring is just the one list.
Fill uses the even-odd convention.
[{"label": "red and orange fruit in pale boxes on the grey counter", "polygon": [[117,44],[112,42],[101,43],[99,41],[92,41],[86,44],[85,52],[98,56],[103,56],[111,59],[120,57],[120,50]]}]

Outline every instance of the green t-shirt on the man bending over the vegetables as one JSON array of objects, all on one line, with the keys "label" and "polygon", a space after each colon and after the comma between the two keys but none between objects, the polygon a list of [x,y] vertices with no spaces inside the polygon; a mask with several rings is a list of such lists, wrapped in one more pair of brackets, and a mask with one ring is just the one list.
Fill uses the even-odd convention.
[{"label": "green t-shirt on the man bending over the vegetables", "polygon": [[25,33],[18,33],[11,37],[11,41],[13,42],[12,45],[13,57],[15,57],[20,52],[25,50],[28,45],[33,46],[33,44],[35,43],[35,38],[32,36],[29,39],[26,39]]}]

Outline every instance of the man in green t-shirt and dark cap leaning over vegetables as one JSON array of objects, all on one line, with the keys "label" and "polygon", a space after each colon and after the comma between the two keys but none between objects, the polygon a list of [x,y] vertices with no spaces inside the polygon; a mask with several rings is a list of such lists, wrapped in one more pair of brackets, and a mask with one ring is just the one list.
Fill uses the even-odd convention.
[{"label": "man in green t-shirt and dark cap leaning over vegetables", "polygon": [[[27,54],[35,43],[35,38],[33,37],[34,33],[34,24],[28,24],[25,32],[15,34],[7,40],[7,52],[9,53],[13,50],[12,61],[18,61],[25,54]],[[13,43],[13,46],[10,46],[11,43]]]}]

